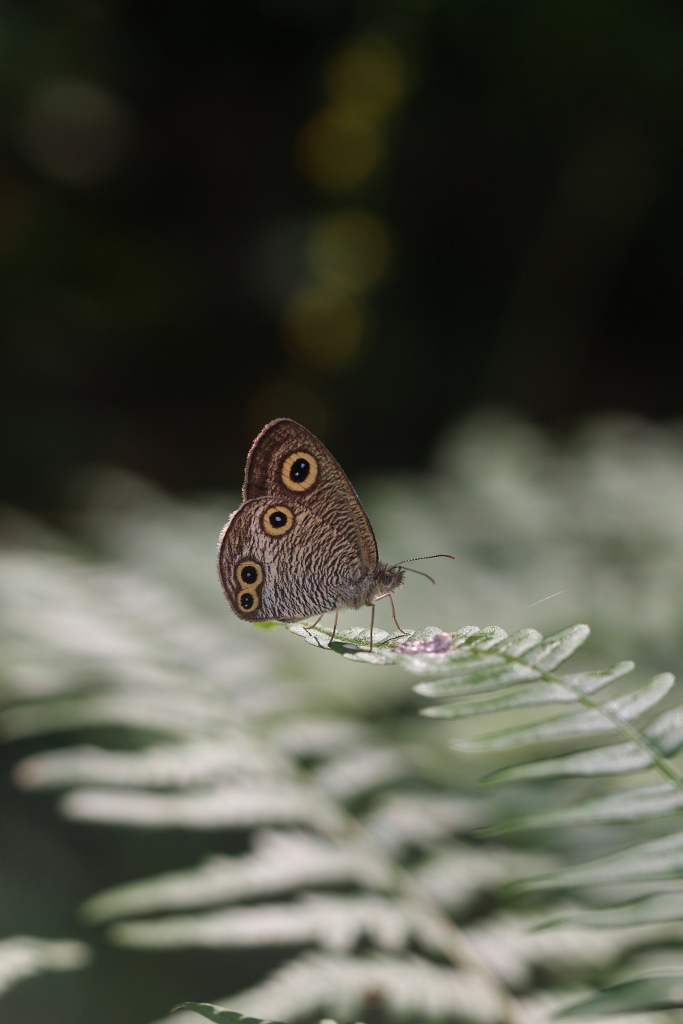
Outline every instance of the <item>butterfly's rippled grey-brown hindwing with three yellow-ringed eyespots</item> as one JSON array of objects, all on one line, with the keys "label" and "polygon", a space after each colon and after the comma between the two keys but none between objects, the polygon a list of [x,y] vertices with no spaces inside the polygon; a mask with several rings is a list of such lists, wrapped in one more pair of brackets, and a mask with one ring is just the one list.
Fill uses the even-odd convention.
[{"label": "butterfly's rippled grey-brown hindwing with three yellow-ringed eyespots", "polygon": [[218,543],[218,574],[232,610],[251,622],[298,622],[332,611],[360,574],[357,549],[310,503],[244,502]]}]

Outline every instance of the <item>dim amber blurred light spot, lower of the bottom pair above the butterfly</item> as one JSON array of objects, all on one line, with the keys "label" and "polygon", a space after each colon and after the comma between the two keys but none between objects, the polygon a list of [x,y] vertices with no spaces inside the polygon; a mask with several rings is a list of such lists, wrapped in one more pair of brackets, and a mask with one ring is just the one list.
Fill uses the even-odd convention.
[{"label": "dim amber blurred light spot, lower of the bottom pair above the butterfly", "polygon": [[341,370],[357,353],[362,328],[362,311],[347,295],[327,288],[304,289],[285,310],[285,348],[302,366]]}]

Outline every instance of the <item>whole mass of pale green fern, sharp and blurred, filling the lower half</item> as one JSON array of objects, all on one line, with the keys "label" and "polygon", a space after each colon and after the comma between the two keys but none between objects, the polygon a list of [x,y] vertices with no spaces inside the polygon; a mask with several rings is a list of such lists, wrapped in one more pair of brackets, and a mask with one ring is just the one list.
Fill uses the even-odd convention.
[{"label": "whole mass of pale green fern, sharp and blurred, filling the lower half", "polygon": [[[471,426],[438,474],[378,484],[369,502],[383,556],[458,555],[438,588],[401,592],[401,621],[544,626],[580,611],[597,624],[594,656],[675,666],[682,467],[673,434],[596,426],[557,453],[522,426]],[[399,638],[379,633],[370,652],[356,629],[336,638],[346,656],[249,630],[212,564],[229,501],[172,504],[115,475],[95,490],[79,536],[105,558],[16,522],[26,544],[0,555],[5,735],[87,735],[25,758],[16,780],[62,791],[59,809],[83,823],[249,837],[242,853],[160,862],[93,894],[83,913],[112,941],[222,948],[226,964],[230,949],[279,948],[259,983],[206,993],[258,1017],[361,1018],[379,998],[388,1019],[492,1024],[549,1020],[616,980],[625,958],[677,949],[679,923],[657,903],[676,872],[661,829],[678,806],[678,713],[655,708],[675,701],[670,677],[634,690],[626,663],[560,674],[582,657],[575,629],[547,641],[460,630],[443,654],[396,652]],[[330,637],[298,632],[317,647]],[[431,721],[415,714],[405,669],[449,701]],[[500,727],[474,741],[481,713]],[[546,717],[529,726],[530,713]],[[93,730],[113,726],[121,743],[109,732],[97,744]],[[476,759],[449,751],[454,729]],[[577,750],[600,734],[616,741]],[[540,750],[511,769],[517,743]],[[596,793],[613,757],[660,780],[626,785],[622,772]],[[517,784],[476,790],[482,773]],[[613,821],[614,834],[599,827]],[[625,903],[634,893],[640,916]]]}]

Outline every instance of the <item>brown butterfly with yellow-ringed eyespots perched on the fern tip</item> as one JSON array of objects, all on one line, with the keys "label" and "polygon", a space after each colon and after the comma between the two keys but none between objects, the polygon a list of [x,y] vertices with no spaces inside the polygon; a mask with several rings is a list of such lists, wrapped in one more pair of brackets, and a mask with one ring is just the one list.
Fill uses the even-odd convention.
[{"label": "brown butterfly with yellow-ringed eyespots perched on the fern tip", "polygon": [[375,604],[388,597],[405,632],[391,596],[405,567],[379,560],[358,496],[309,430],[294,420],[266,424],[247,457],[242,497],[218,542],[218,574],[236,615],[317,623],[334,611],[334,639],[340,608],[370,605],[372,647]]}]

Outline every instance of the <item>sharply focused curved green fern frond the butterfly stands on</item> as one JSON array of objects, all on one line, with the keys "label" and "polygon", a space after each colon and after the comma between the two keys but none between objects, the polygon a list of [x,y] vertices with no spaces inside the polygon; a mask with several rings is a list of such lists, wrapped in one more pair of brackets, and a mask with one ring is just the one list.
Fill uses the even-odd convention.
[{"label": "sharply focused curved green fern frond the butterfly stands on", "polygon": [[[564,714],[532,725],[518,724],[476,738],[453,740],[453,746],[460,751],[494,753],[531,743],[583,743],[595,736],[607,737],[607,743],[498,769],[484,778],[489,784],[628,775],[646,769],[664,778],[658,784],[624,787],[573,807],[511,819],[487,829],[489,833],[644,820],[683,808],[683,776],[671,760],[683,748],[683,705],[676,703],[651,716],[672,692],[673,675],[661,673],[642,686],[610,695],[610,687],[633,671],[632,662],[620,662],[592,672],[559,672],[560,666],[585,643],[590,633],[587,626],[572,626],[549,637],[532,629],[508,636],[499,628],[464,627],[446,635],[447,649],[435,652],[430,652],[430,638],[439,634],[435,628],[411,634],[408,639],[389,634],[375,636],[372,652],[367,631],[343,633],[332,644],[330,634],[324,630],[292,627],[292,632],[309,643],[332,647],[346,658],[396,664],[418,675],[421,682],[414,687],[418,693],[442,698],[441,703],[422,710],[429,718],[457,720],[520,708],[554,705],[565,708]],[[605,691],[608,695],[602,699]],[[581,711],[575,710],[578,706]],[[610,742],[613,738],[620,741]],[[676,834],[541,876],[523,885],[566,888],[615,879],[624,882],[663,879],[680,871],[682,858],[683,834]],[[647,920],[653,920],[657,906],[649,903],[643,907]],[[659,907],[658,912],[665,914],[665,907]],[[632,909],[631,918],[634,916],[637,919]],[[594,921],[595,914],[590,920]]]}]

